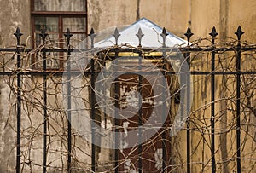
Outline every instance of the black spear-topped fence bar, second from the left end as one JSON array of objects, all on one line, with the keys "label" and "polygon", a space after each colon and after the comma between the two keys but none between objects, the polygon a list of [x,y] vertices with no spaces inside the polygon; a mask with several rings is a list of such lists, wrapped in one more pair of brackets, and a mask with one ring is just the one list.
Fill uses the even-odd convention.
[{"label": "black spear-topped fence bar, second from the left end", "polygon": [[[40,33],[40,37],[43,39],[43,46],[45,46],[45,38],[48,36],[45,33],[45,30],[42,30]],[[44,113],[44,120],[43,120],[43,173],[46,172],[46,161],[47,161],[47,75],[46,75],[46,51],[45,47],[43,47],[43,113]]]}]

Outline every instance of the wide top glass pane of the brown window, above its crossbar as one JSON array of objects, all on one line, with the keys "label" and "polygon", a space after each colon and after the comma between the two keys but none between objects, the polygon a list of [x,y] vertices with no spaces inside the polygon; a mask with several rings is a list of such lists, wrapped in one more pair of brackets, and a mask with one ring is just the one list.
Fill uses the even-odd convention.
[{"label": "wide top glass pane of the brown window, above its crossbar", "polygon": [[35,11],[85,11],[85,0],[34,0]]}]

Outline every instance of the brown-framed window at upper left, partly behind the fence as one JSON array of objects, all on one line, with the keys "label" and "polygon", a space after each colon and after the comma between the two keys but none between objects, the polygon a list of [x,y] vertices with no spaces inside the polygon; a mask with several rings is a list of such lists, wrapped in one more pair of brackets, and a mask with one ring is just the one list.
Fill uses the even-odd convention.
[{"label": "brown-framed window at upper left, partly behind the fence", "polygon": [[[72,45],[83,40],[87,34],[87,1],[86,0],[31,0],[33,45],[42,43],[39,33],[45,29],[49,34],[47,45],[64,48],[63,34],[67,28],[73,34]],[[49,54],[48,68],[63,67],[63,54]],[[40,67],[40,55],[32,60],[34,67]]]}]

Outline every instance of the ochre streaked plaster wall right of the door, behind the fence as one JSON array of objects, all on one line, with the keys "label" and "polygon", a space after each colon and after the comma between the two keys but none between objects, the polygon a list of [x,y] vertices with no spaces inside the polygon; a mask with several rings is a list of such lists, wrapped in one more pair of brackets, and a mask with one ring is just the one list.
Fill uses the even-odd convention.
[{"label": "ochre streaked plaster wall right of the door, behind the fence", "polygon": [[[212,30],[212,26],[216,26],[216,30],[219,33],[218,37],[221,39],[217,39],[217,43],[223,43],[224,41],[231,41],[232,39],[228,37],[233,37],[236,39],[237,27],[241,26],[242,31],[245,32],[242,35],[242,41],[248,41],[249,43],[255,42],[255,1],[246,1],[241,3],[241,1],[199,1],[192,0],[191,2],[191,29],[195,35],[191,38],[192,40],[196,40],[198,38],[209,37],[209,32]],[[211,40],[211,38],[210,38]],[[210,45],[210,42],[203,42],[201,44]],[[232,46],[231,44],[224,44],[225,46]],[[234,44],[236,46],[236,43]],[[209,55],[201,55],[197,58],[203,60],[205,63],[198,61],[193,65],[194,70],[211,70],[211,56]],[[230,66],[235,70],[236,60],[233,60],[234,53],[224,53],[216,56],[216,63],[218,60],[222,60],[222,66],[216,66],[217,68],[223,67],[224,69],[229,69]],[[236,58],[235,58],[236,59]],[[250,64],[252,63],[252,57],[247,58],[247,56],[242,57],[242,65],[241,68],[244,70],[253,69]],[[246,67],[247,66],[247,67]],[[250,66],[250,67],[249,67]],[[215,98],[219,101],[216,101],[215,104],[215,113],[216,113],[216,136],[215,136],[215,150],[216,150],[216,162],[217,170],[223,172],[236,171],[236,129],[230,130],[230,132],[226,133],[231,124],[236,124],[234,122],[234,117],[236,118],[236,111],[232,111],[231,107],[236,107],[229,100],[230,95],[233,92],[236,92],[236,86],[231,85],[231,83],[236,82],[234,79],[230,77],[215,77]],[[195,93],[199,93],[199,95],[195,95],[194,100],[194,108],[202,107],[203,105],[207,105],[211,102],[211,85],[210,85],[210,77],[203,78],[202,76],[196,76],[195,81]],[[228,89],[226,88],[228,87]],[[242,91],[241,91],[242,92]],[[228,99],[227,99],[228,98]],[[201,127],[205,128],[206,135],[201,138],[201,132],[192,131],[192,142],[191,147],[192,151],[196,151],[194,156],[192,157],[192,162],[195,163],[204,163],[206,160],[211,159],[211,151],[210,147],[207,147],[211,143],[211,137],[207,134],[209,131],[210,125],[210,108],[206,107],[201,109],[201,111],[192,114],[192,118],[195,118],[195,124],[201,125]],[[202,121],[202,119],[206,119]],[[241,113],[241,122],[250,122],[255,123],[255,118],[253,118],[253,113]],[[208,126],[208,128],[207,128]],[[248,129],[247,129],[248,128]],[[248,131],[247,131],[248,130]],[[246,133],[255,134],[255,127],[251,127],[247,124],[247,126],[241,126],[241,144],[243,145],[243,153],[241,154],[242,158],[250,158],[253,157],[250,152],[252,150],[253,138],[245,140],[243,136],[247,136]],[[210,132],[210,131],[209,131]],[[226,133],[226,134],[225,134]],[[200,141],[203,139],[203,141]],[[255,146],[255,144],[253,144]],[[235,158],[234,158],[235,154]],[[234,158],[234,159],[232,159]],[[230,161],[227,161],[229,160]],[[234,160],[234,161],[233,161]],[[244,161],[241,160],[241,170],[247,171],[247,168],[251,168],[253,164],[252,160]],[[255,169],[255,168],[254,168]],[[192,170],[200,171],[204,170],[205,172],[211,171],[210,165],[206,164],[194,164],[192,165]]]}]

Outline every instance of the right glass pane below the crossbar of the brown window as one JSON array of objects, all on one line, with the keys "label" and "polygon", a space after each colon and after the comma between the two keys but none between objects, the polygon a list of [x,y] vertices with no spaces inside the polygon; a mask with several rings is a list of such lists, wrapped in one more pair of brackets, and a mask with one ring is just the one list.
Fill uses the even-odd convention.
[{"label": "right glass pane below the crossbar of the brown window", "polygon": [[86,32],[86,19],[85,18],[63,18],[63,32]]}]

